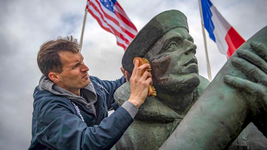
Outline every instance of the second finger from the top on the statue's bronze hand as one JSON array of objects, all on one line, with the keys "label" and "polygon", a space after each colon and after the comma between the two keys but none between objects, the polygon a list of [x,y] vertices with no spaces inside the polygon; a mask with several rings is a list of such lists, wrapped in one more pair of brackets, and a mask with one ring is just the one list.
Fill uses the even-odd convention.
[{"label": "second finger from the top on the statue's bronze hand", "polygon": [[238,49],[236,52],[237,52],[238,57],[251,62],[252,64],[259,67],[261,70],[263,70],[265,73],[267,73],[267,62],[264,59],[262,59],[260,56],[245,49]]}]

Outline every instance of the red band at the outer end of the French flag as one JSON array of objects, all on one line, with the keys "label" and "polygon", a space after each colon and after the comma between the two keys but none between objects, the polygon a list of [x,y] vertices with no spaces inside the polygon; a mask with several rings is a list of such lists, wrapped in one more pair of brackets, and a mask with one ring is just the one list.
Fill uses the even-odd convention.
[{"label": "red band at the outer end of the French flag", "polygon": [[228,33],[226,34],[225,40],[228,45],[228,58],[231,57],[234,51],[245,42],[245,40],[237,33],[237,31],[235,31],[233,27],[231,27]]}]

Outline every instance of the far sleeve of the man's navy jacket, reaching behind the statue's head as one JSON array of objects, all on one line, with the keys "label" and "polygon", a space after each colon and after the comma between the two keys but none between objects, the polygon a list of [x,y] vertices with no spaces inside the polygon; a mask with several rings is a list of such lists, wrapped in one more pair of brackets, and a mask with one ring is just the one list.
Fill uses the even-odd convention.
[{"label": "far sleeve of the man's navy jacket, reaching behind the statue's head", "polygon": [[126,82],[126,79],[124,76],[122,76],[120,79],[115,80],[115,81],[108,81],[108,80],[100,80],[97,77],[93,77],[90,76],[90,80],[94,80],[97,83],[99,83],[100,85],[103,85],[104,88],[108,91],[108,93],[105,92],[106,94],[106,103],[107,103],[107,107],[108,107],[108,111],[112,110],[111,104],[113,104],[114,101],[114,93],[117,90],[117,88],[119,88],[121,85],[123,85]]}]

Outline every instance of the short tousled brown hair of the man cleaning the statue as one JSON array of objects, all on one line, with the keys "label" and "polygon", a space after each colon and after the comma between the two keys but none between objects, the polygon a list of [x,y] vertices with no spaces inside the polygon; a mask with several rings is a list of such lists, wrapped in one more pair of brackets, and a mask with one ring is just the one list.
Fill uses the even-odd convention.
[{"label": "short tousled brown hair of the man cleaning the statue", "polygon": [[63,64],[60,52],[78,53],[80,45],[77,39],[71,36],[61,37],[57,40],[49,40],[40,46],[37,54],[37,64],[41,72],[49,79],[50,72],[61,73]]}]

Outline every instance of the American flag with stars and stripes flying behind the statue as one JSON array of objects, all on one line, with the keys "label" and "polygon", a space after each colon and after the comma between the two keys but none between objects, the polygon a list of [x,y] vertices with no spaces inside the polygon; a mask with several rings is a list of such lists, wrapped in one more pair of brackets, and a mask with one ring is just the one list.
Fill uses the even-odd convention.
[{"label": "American flag with stars and stripes flying behind the statue", "polygon": [[103,29],[116,36],[117,45],[126,50],[137,29],[120,4],[116,0],[88,0],[86,8]]}]

